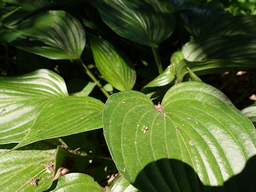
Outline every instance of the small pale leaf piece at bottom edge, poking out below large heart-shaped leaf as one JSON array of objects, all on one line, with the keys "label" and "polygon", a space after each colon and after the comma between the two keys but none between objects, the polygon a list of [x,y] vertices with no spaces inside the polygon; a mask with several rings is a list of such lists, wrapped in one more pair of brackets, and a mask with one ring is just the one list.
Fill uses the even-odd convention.
[{"label": "small pale leaf piece at bottom edge, poking out below large heart-shaped leaf", "polygon": [[133,187],[123,176],[121,176],[115,182],[115,185],[111,188],[110,192],[139,192],[139,190]]}]

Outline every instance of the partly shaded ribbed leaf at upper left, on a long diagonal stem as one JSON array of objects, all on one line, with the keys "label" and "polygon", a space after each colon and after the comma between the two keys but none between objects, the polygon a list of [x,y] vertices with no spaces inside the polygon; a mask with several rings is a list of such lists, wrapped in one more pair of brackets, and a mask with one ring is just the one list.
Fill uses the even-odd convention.
[{"label": "partly shaded ribbed leaf at upper left, on a long diagonal stem", "polygon": [[85,46],[81,23],[64,11],[36,14],[13,31],[20,36],[11,45],[50,59],[79,59]]}]

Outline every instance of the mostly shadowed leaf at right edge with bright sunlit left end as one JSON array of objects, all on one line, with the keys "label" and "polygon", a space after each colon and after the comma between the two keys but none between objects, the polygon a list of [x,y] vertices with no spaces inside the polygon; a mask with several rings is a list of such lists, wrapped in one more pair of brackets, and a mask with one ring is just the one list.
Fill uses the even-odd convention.
[{"label": "mostly shadowed leaf at right edge with bright sunlit left end", "polygon": [[186,43],[182,47],[182,53],[188,61],[223,59],[254,63],[255,47],[256,38],[250,35],[217,35]]}]

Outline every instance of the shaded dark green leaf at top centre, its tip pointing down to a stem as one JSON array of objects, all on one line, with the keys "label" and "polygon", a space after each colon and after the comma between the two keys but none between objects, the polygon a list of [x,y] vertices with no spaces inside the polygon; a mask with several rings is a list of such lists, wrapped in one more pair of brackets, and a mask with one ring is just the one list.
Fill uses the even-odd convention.
[{"label": "shaded dark green leaf at top centre, its tip pointing down to a stem", "polygon": [[93,0],[102,20],[118,35],[157,47],[175,28],[175,18],[160,1]]}]

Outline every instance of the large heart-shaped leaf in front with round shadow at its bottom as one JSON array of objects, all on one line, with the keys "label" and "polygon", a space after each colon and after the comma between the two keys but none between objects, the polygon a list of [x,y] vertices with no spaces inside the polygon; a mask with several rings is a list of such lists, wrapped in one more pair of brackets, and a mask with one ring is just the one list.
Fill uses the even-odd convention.
[{"label": "large heart-shaped leaf in front with round shadow at its bottom", "polygon": [[[222,186],[256,154],[250,120],[201,82],[171,87],[156,106],[137,91],[115,93],[103,109],[103,130],[117,169],[142,191]],[[253,181],[234,179],[229,191]]]}]

